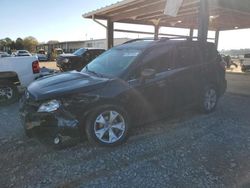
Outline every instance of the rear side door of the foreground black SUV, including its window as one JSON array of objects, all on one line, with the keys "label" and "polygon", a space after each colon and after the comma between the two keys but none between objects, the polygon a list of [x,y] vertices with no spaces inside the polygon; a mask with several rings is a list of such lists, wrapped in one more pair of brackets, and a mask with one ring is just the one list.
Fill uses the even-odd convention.
[{"label": "rear side door of the foreground black SUV, including its window", "polygon": [[185,108],[197,101],[199,80],[196,79],[200,58],[192,45],[177,46],[174,53],[174,75],[171,78],[175,92],[175,107]]}]

